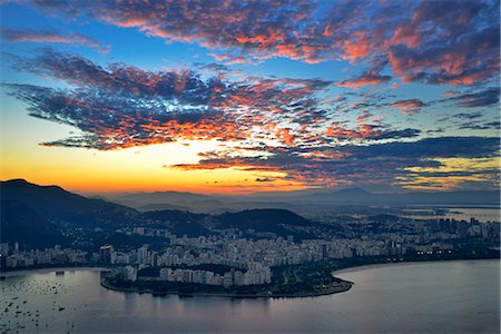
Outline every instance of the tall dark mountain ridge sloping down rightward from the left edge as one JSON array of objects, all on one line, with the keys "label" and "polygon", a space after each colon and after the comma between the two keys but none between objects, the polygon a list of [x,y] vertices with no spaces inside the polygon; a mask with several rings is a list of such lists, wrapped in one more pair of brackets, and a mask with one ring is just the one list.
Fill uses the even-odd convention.
[{"label": "tall dark mountain ridge sloping down rightward from the left edge", "polygon": [[23,179],[1,181],[0,198],[22,203],[51,222],[78,226],[112,227],[138,215],[121,205],[86,198],[58,186],[38,186]]}]

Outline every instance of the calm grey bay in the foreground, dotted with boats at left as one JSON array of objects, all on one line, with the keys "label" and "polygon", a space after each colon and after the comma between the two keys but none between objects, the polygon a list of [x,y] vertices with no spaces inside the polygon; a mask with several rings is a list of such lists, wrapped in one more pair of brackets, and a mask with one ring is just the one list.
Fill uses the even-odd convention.
[{"label": "calm grey bay in the foreground, dotted with boats at left", "polygon": [[37,272],[0,282],[0,326],[40,333],[499,333],[499,261],[352,268],[337,273],[355,282],[351,291],[295,299],[154,297],[107,291],[95,271]]}]

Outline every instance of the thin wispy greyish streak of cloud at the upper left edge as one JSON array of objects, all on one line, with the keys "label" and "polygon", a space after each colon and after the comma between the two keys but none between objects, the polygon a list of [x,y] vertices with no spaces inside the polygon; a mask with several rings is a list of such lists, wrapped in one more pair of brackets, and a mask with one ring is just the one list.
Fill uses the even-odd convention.
[{"label": "thin wispy greyish streak of cloud at the upper left edge", "polygon": [[13,29],[3,27],[0,28],[0,36],[12,42],[68,43],[99,49],[100,52],[105,53],[109,51],[109,46],[79,33],[61,35],[60,32],[52,30]]}]

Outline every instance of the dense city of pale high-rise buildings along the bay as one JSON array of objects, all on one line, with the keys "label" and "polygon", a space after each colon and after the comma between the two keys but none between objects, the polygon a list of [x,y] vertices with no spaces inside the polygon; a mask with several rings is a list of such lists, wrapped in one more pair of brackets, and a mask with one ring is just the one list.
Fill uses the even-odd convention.
[{"label": "dense city of pale high-rise buildings along the bay", "polygon": [[[382,220],[383,219],[383,220]],[[208,235],[188,237],[158,228],[160,222],[146,219],[140,226],[119,228],[112,234],[149,237],[153,247],[101,245],[95,252],[57,245],[46,249],[20,249],[19,243],[0,244],[4,269],[50,266],[108,266],[126,281],[157,279],[206,285],[271,284],[273,268],[322,261],[350,259],[356,264],[426,259],[498,258],[500,223],[455,219],[412,219],[397,216],[363,217],[350,222],[289,226],[322,238],[295,240],[293,235],[212,229]],[[164,222],[166,226],[170,222]],[[286,226],[286,225],[285,225]],[[67,232],[75,234],[81,229]],[[94,234],[102,233],[99,228]],[[301,235],[301,234],[299,234]],[[346,262],[347,261],[347,262]],[[218,267],[215,273],[212,266]],[[346,265],[350,266],[350,265]],[[157,268],[151,271],[147,268]],[[154,277],[151,277],[154,276]]]}]

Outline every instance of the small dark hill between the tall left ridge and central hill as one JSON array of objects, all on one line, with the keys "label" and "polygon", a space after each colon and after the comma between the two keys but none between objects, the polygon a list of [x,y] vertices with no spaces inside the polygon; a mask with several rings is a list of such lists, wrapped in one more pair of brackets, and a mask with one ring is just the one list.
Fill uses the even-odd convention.
[{"label": "small dark hill between the tall left ridge and central hill", "polygon": [[143,219],[149,219],[157,222],[158,227],[164,227],[170,230],[170,233],[188,237],[196,237],[200,235],[210,235],[210,230],[207,229],[203,222],[208,217],[205,214],[193,214],[189,212],[180,210],[159,210],[159,212],[148,212],[140,216]]}]

